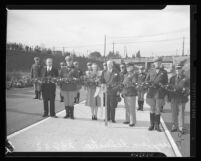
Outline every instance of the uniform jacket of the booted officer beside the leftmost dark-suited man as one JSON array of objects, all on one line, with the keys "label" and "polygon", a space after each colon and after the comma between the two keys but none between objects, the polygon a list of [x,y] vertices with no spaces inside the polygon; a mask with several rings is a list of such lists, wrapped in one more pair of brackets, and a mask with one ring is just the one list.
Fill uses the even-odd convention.
[{"label": "uniform jacket of the booted officer beside the leftmost dark-suited man", "polygon": [[[78,71],[74,66],[67,66],[61,69],[60,73],[61,78],[79,78]],[[63,91],[76,91],[77,90],[77,81],[72,81],[70,83],[61,83],[61,90]]]}]

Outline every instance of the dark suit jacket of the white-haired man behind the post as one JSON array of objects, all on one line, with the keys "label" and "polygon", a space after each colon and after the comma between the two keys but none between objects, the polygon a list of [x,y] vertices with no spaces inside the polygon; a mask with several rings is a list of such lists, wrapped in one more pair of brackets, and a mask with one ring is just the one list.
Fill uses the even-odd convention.
[{"label": "dark suit jacket of the white-haired man behind the post", "polygon": [[119,73],[115,69],[102,72],[101,83],[106,84],[108,93],[116,93],[120,87]]}]

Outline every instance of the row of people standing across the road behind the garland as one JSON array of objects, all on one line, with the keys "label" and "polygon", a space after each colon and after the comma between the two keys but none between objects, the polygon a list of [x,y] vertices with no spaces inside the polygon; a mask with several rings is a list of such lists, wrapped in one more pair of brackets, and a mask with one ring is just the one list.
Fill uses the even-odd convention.
[{"label": "row of people standing across the road behind the garland", "polygon": [[[61,78],[77,78],[78,81],[72,81],[68,83],[61,83],[60,97],[61,102],[64,101],[66,116],[74,119],[74,104],[79,102],[79,90],[82,87],[83,77],[97,78],[98,85],[106,86],[107,94],[107,119],[115,123],[115,109],[121,97],[125,103],[125,121],[124,124],[129,126],[135,126],[136,124],[136,102],[138,102],[138,109],[143,111],[144,94],[146,95],[146,103],[150,106],[150,126],[148,130],[160,129],[160,116],[165,105],[165,96],[167,96],[168,102],[171,102],[172,110],[172,129],[171,131],[180,131],[184,133],[184,110],[185,104],[188,102],[188,96],[178,95],[177,93],[167,93],[162,88],[148,88],[143,86],[133,86],[134,83],[152,82],[153,84],[171,84],[176,89],[190,88],[190,83],[183,74],[183,64],[176,65],[176,73],[168,80],[167,71],[162,66],[162,58],[158,57],[154,60],[154,67],[145,72],[143,67],[136,69],[134,64],[121,64],[120,71],[115,67],[113,61],[109,60],[103,64],[103,70],[101,71],[96,63],[87,63],[87,71],[83,72],[79,69],[79,63],[74,62],[71,56],[65,57],[66,66],[62,62],[60,70],[53,67],[53,60],[48,58],[46,60],[46,66],[40,66],[40,59],[34,58],[35,64],[31,68],[31,76],[35,77],[61,77]],[[55,115],[55,93],[56,85],[54,83],[34,84],[36,99],[40,99],[42,92],[44,102],[44,115],[48,116],[48,101],[50,101],[50,116],[57,117]],[[91,107],[92,120],[97,120],[98,107],[100,107],[100,97],[94,97],[97,85],[84,86],[87,91],[86,105]],[[121,97],[120,97],[121,95]],[[138,100],[136,99],[138,98]],[[105,104],[105,102],[104,102]]]}]

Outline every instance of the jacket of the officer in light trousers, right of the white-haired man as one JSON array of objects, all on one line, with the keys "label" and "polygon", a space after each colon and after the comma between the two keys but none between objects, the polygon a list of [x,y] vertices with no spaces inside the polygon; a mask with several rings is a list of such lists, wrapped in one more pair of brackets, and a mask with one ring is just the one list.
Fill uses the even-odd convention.
[{"label": "jacket of the officer in light trousers, right of the white-haired man", "polygon": [[137,89],[134,86],[126,87],[128,84],[134,84],[137,83],[137,74],[133,73],[132,75],[129,75],[128,73],[124,75],[123,80],[123,91],[122,95],[124,96],[137,96]]}]

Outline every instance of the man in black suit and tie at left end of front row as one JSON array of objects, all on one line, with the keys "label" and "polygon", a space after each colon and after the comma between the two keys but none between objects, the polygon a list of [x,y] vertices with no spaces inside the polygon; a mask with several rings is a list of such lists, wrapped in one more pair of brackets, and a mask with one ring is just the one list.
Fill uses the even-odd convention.
[{"label": "man in black suit and tie at left end of front row", "polygon": [[[52,58],[46,59],[46,67],[42,69],[42,79],[51,79],[58,77],[58,70],[52,65]],[[50,101],[50,116],[57,117],[55,115],[55,96],[56,96],[56,84],[51,81],[44,81],[41,85],[43,103],[44,103],[44,115],[43,117],[48,116],[48,101]]]}]

